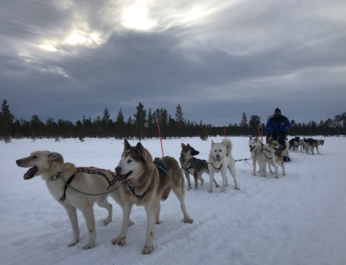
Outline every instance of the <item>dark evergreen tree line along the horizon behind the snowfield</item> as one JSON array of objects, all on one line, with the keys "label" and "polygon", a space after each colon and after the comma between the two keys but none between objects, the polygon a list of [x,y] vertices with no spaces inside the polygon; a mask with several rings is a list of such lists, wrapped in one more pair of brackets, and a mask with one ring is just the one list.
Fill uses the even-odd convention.
[{"label": "dark evergreen tree line along the horizon behind the snowfield", "polygon": [[[268,116],[266,120],[271,118]],[[264,131],[264,123],[261,123],[261,117],[252,115],[247,120],[246,114],[243,113],[242,120],[239,124],[230,123],[226,127],[215,127],[210,124],[204,124],[202,121],[186,120],[183,118],[183,111],[180,104],[176,107],[174,118],[164,108],[152,111],[151,108],[147,111],[144,105],[139,102],[136,107],[134,118],[129,115],[125,120],[125,116],[120,108],[115,120],[111,119],[107,107],[103,111],[102,118],[98,116],[93,120],[85,118],[71,122],[69,120],[47,118],[46,122],[39,120],[37,115],[33,115],[31,120],[24,118],[15,118],[10,112],[10,107],[6,100],[3,100],[0,111],[0,140],[9,143],[11,138],[54,138],[59,141],[60,138],[79,138],[81,141],[84,138],[128,138],[138,139],[143,138],[158,138],[158,126],[160,126],[161,137],[181,138],[181,137],[196,137],[201,140],[207,140],[208,136],[248,136],[257,135],[257,125],[261,125]],[[322,120],[319,124],[311,120],[307,123],[296,123],[291,120],[291,129],[289,134],[306,135],[306,136],[335,136],[346,134],[346,112],[337,115],[334,119]]]}]

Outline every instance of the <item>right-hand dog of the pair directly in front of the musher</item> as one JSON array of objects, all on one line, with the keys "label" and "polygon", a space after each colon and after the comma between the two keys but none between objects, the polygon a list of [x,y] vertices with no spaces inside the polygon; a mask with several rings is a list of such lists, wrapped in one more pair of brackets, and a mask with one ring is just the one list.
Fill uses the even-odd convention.
[{"label": "right-hand dog of the pair directly in front of the musher", "polygon": [[282,146],[279,145],[277,141],[271,140],[270,138],[267,139],[267,143],[266,145],[264,145],[263,152],[262,152],[264,176],[266,176],[266,163],[268,163],[269,171],[271,172],[271,174],[273,174],[273,171],[271,170],[271,165],[273,165],[275,169],[275,179],[279,178],[276,163],[278,163],[280,167],[282,167],[282,175],[286,175],[286,172],[284,171],[284,158],[281,154],[282,152],[286,152],[286,149],[287,149],[287,144],[282,149]]}]

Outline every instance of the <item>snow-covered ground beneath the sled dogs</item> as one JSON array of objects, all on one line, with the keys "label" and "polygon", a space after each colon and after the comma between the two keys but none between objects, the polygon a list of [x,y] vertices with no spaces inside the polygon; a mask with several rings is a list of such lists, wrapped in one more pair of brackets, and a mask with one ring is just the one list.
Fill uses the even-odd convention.
[{"label": "snow-covered ground beneath the sled dogs", "polygon": [[[212,138],[221,141],[222,138]],[[231,138],[235,159],[250,158],[248,138]],[[181,142],[190,143],[208,159],[210,138],[163,140],[164,152],[179,159]],[[252,167],[236,163],[241,190],[234,190],[228,172],[226,194],[208,193],[209,176],[199,190],[185,192],[194,223],[183,223],[180,203],[172,193],[161,203],[154,253],[142,255],[146,214],[134,206],[126,246],[113,246],[122,212],[113,199],[113,222],[103,226],[107,211],[94,206],[96,248],[82,250],[87,241],[84,218],[78,212],[80,243],[67,248],[72,230],[65,210],[49,194],[41,177],[24,181],[24,168],[15,160],[35,150],[60,152],[66,162],[114,170],[122,140],[12,140],[0,143],[0,264],[346,264],[346,138],[327,138],[321,155],[291,153],[286,176],[252,175]],[[131,144],[136,142],[130,141]],[[152,156],[161,156],[157,139],[143,140]],[[258,166],[257,166],[258,168]],[[221,174],[215,174],[221,183]],[[193,178],[192,178],[193,179]],[[194,182],[192,181],[192,186]],[[187,187],[187,182],[185,181]],[[199,185],[200,186],[200,185]]]}]

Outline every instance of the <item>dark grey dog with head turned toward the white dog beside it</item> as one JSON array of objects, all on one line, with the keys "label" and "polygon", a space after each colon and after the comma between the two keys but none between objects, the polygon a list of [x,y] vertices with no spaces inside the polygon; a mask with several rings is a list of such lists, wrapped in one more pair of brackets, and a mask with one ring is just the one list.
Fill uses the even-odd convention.
[{"label": "dark grey dog with head turned toward the white dog beside it", "polygon": [[[180,153],[180,165],[181,169],[183,170],[183,173],[185,174],[185,177],[188,181],[188,190],[191,189],[191,182],[190,182],[190,174],[194,176],[194,188],[198,190],[198,181],[201,181],[201,186],[203,186],[204,179],[202,178],[203,173],[209,174],[208,170],[208,163],[205,160],[194,158],[194,156],[197,156],[199,152],[195,150],[192,146],[184,145],[181,143],[181,153]],[[197,169],[197,170],[196,170]],[[220,185],[215,181],[214,183],[216,187],[220,187]]]}]

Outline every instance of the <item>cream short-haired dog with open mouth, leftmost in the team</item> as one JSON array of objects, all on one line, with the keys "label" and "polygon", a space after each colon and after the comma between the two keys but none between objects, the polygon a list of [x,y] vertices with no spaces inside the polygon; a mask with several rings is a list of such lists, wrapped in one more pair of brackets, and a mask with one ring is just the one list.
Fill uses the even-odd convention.
[{"label": "cream short-haired dog with open mouth, leftmost in the team", "polygon": [[[80,230],[78,228],[78,219],[76,209],[82,211],[88,228],[89,241],[83,246],[83,249],[95,247],[95,219],[93,217],[93,203],[97,203],[101,208],[108,211],[108,217],[104,220],[104,226],[112,221],[112,205],[108,203],[107,196],[86,196],[82,193],[66,189],[65,183],[71,181],[71,185],[76,190],[89,194],[100,194],[111,191],[119,187],[120,183],[116,181],[110,186],[109,180],[116,175],[110,170],[100,170],[98,168],[86,167],[82,172],[72,163],[64,163],[64,158],[57,152],[36,151],[26,158],[16,161],[19,167],[30,167],[28,172],[24,174],[24,180],[33,179],[34,176],[41,176],[46,181],[47,188],[53,198],[57,200],[62,207],[65,208],[69,216],[73,231],[73,241],[68,246],[75,246],[80,241]],[[92,174],[85,173],[93,172]],[[98,174],[101,172],[102,174]],[[103,175],[103,176],[102,176]],[[107,177],[106,177],[107,176]],[[117,201],[122,206],[122,201]]]}]

